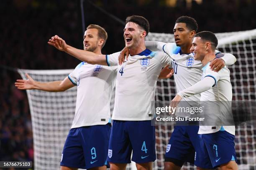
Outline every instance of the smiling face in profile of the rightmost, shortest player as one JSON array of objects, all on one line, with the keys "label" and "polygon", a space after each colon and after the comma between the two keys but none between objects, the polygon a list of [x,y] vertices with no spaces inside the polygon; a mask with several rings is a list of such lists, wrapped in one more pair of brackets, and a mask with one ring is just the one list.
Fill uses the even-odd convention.
[{"label": "smiling face in profile of the rightmost, shortest player", "polygon": [[207,54],[206,42],[201,37],[195,37],[190,50],[194,53],[195,60],[202,61]]}]

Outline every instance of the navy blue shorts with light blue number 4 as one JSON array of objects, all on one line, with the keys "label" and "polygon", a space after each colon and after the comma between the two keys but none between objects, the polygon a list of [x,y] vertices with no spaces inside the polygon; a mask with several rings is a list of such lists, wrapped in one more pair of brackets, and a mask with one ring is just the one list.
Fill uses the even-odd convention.
[{"label": "navy blue shorts with light blue number 4", "polygon": [[136,163],[156,160],[156,135],[155,127],[151,126],[151,120],[113,120],[107,161],[131,163],[131,160]]}]

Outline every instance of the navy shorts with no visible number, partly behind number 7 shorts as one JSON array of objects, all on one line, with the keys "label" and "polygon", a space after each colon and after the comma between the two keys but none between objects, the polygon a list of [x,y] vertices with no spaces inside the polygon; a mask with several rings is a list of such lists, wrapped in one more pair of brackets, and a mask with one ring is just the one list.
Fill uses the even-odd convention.
[{"label": "navy shorts with no visible number, partly behind number 7 shorts", "polygon": [[198,130],[199,126],[196,125],[175,126],[166,147],[165,162],[172,162],[180,167],[184,162],[194,164],[199,140]]}]

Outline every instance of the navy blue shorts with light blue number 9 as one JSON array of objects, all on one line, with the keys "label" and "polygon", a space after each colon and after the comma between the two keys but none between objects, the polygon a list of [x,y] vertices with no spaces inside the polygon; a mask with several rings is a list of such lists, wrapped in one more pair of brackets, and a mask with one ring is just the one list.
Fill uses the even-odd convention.
[{"label": "navy blue shorts with light blue number 9", "polygon": [[109,166],[106,160],[110,131],[110,123],[69,130],[60,165],[81,169]]}]

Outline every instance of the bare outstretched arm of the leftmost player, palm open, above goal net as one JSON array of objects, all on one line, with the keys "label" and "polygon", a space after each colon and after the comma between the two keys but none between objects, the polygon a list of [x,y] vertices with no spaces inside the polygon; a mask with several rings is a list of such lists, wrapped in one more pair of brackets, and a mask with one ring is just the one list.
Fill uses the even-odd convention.
[{"label": "bare outstretched arm of the leftmost player, palm open, above goal net", "polygon": [[37,82],[33,80],[28,74],[26,74],[28,80],[17,80],[15,86],[20,90],[44,90],[47,92],[63,92],[67,89],[74,87],[75,85],[66,77],[64,80],[54,82]]}]

